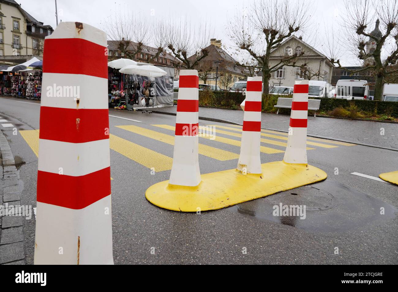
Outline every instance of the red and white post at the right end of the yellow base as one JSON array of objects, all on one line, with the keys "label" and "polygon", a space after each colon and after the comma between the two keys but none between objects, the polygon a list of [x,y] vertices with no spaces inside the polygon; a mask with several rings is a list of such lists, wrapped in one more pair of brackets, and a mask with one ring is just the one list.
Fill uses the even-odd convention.
[{"label": "red and white post at the right end of the yellow base", "polygon": [[308,80],[295,84],[289,136],[283,161],[307,164]]}]

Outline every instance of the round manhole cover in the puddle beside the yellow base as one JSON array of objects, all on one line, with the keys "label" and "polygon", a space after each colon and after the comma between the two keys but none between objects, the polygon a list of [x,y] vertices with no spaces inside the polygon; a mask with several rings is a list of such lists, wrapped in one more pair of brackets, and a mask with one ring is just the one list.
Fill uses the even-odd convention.
[{"label": "round manhole cover in the puddle beside the yellow base", "polygon": [[302,186],[294,190],[283,191],[266,197],[272,205],[305,205],[306,211],[320,211],[333,208],[336,205],[334,197],[313,186]]}]

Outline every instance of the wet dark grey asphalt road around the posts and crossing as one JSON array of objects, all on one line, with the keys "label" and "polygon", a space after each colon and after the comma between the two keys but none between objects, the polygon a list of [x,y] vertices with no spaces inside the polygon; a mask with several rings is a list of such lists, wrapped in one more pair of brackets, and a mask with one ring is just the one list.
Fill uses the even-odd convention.
[{"label": "wet dark grey asphalt road around the posts and crossing", "polygon": [[[39,108],[35,101],[0,98],[0,115],[18,130],[39,129]],[[109,114],[141,121],[109,117],[111,134],[172,157],[172,145],[115,126],[154,130],[150,125],[174,126],[175,116],[113,109]],[[199,124],[230,126],[207,121]],[[12,129],[2,130],[20,162],[21,203],[35,207],[37,157],[21,135],[12,135]],[[171,134],[165,129],[156,131]],[[213,145],[203,140],[200,143]],[[235,146],[222,147],[239,154]],[[283,153],[261,153],[262,163],[282,158]],[[312,185],[316,189],[302,187],[197,215],[164,210],[146,201],[145,190],[167,180],[170,170],[151,175],[149,168],[111,150],[115,264],[397,264],[398,187],[350,173],[377,177],[396,170],[398,152],[360,145],[316,147],[308,151],[308,161],[328,174],[326,181]],[[199,156],[202,174],[232,169],[236,163],[236,159],[217,161]],[[338,175],[334,174],[336,167]],[[271,216],[272,206],[279,203],[307,205],[311,210],[306,211],[304,220]],[[385,209],[384,215],[380,215],[380,207]],[[34,217],[25,220],[28,264],[33,263],[34,229]],[[335,254],[336,247],[339,254]]]}]

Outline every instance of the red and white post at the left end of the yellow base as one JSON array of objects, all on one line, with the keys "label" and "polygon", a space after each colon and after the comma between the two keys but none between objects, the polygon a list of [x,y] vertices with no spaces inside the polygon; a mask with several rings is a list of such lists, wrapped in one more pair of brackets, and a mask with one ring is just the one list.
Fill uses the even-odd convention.
[{"label": "red and white post at the left end of the yellow base", "polygon": [[181,70],[174,137],[173,166],[169,184],[197,186],[199,170],[199,77],[197,70]]}]

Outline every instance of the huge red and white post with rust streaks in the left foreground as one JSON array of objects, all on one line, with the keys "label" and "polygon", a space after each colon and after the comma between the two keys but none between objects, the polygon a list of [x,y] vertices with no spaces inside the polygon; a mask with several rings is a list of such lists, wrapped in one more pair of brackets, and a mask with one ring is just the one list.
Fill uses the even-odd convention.
[{"label": "huge red and white post with rust streaks in the left foreground", "polygon": [[113,264],[106,48],[78,22],[45,38],[35,264]]}]

